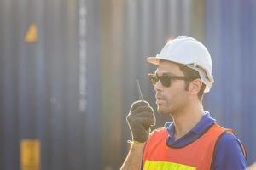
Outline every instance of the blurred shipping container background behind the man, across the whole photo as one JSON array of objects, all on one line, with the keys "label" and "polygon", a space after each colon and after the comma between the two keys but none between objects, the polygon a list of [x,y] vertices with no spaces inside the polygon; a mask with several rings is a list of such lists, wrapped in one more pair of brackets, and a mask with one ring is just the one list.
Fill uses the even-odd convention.
[{"label": "blurred shipping container background behind the man, across the whole photo", "polygon": [[[135,80],[155,108],[145,58],[178,35],[206,44],[215,83],[205,109],[256,161],[255,9],[253,0],[1,0],[0,169],[21,169],[22,139],[40,140],[42,170],[118,169]],[[170,120],[157,116],[156,127]]]}]

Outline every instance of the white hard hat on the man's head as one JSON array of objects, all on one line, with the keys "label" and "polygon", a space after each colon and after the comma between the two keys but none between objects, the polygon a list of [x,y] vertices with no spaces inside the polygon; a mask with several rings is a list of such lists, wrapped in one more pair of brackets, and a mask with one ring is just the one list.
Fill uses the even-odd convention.
[{"label": "white hard hat on the man's head", "polygon": [[212,59],[207,48],[201,42],[192,37],[179,36],[167,42],[160,54],[155,57],[148,57],[147,61],[154,65],[159,65],[161,59],[187,65],[189,68],[198,71],[201,81],[206,84],[204,92],[210,91],[214,82]]}]

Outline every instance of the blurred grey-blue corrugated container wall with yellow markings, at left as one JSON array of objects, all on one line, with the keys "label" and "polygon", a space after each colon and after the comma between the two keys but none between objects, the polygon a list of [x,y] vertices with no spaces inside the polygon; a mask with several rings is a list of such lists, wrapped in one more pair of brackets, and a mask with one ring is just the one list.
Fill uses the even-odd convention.
[{"label": "blurred grey-blue corrugated container wall with yellow markings, at left", "polygon": [[99,4],[1,0],[0,13],[0,169],[38,169],[37,151],[43,170],[100,169]]}]

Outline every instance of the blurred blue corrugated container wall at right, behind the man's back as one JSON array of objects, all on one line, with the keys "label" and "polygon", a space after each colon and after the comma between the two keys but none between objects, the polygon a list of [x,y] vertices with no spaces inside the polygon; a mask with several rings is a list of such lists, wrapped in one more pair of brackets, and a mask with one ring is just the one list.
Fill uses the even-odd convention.
[{"label": "blurred blue corrugated container wall at right, behind the man's back", "polygon": [[[206,43],[212,52],[215,84],[207,108],[234,129],[256,161],[256,2],[206,1]],[[255,62],[254,62],[255,61]]]}]

